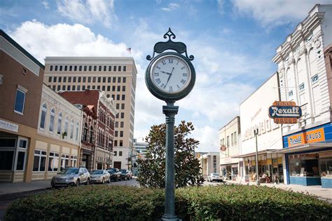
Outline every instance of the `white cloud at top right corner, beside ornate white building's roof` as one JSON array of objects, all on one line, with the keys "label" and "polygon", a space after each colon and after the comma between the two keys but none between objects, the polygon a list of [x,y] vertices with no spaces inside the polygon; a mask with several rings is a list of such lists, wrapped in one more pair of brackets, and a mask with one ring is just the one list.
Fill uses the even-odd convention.
[{"label": "white cloud at top right corner, beside ornate white building's roof", "polygon": [[[320,4],[331,4],[331,0],[321,0]],[[317,4],[314,0],[233,0],[235,11],[253,16],[263,26],[278,26],[299,22],[307,17],[310,9]]]}]

